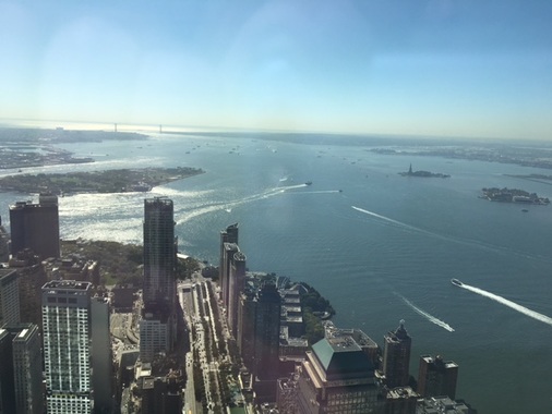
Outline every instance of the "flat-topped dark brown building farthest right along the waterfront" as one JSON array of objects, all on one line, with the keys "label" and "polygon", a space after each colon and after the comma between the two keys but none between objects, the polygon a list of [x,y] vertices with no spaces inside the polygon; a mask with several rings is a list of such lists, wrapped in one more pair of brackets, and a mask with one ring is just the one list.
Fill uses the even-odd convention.
[{"label": "flat-topped dark brown building farthest right along the waterfront", "polygon": [[418,372],[418,393],[422,397],[447,395],[454,400],[456,397],[456,381],[458,365],[453,361],[444,361],[442,356],[420,356]]}]

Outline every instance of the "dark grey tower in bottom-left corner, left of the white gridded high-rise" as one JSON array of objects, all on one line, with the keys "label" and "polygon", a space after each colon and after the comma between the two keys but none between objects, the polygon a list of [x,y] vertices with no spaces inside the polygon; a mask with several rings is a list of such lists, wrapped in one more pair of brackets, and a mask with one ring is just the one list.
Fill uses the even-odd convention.
[{"label": "dark grey tower in bottom-left corner, left of the white gridded high-rise", "polygon": [[38,326],[4,326],[0,329],[0,412],[41,414],[43,356]]}]

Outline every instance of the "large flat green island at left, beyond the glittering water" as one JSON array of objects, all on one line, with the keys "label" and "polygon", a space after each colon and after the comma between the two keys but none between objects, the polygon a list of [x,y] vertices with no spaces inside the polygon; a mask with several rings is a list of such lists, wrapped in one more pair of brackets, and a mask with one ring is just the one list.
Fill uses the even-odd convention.
[{"label": "large flat green island at left, beyond the glittering water", "polygon": [[128,193],[148,192],[154,186],[203,173],[190,167],[121,169],[56,174],[17,174],[0,178],[0,191],[20,193],[50,192]]}]

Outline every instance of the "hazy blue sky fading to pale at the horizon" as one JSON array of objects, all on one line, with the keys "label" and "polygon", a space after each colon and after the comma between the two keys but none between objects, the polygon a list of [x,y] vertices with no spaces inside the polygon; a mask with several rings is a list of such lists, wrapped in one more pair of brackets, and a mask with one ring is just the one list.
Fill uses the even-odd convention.
[{"label": "hazy blue sky fading to pale at the horizon", "polygon": [[552,139],[552,1],[1,1],[0,118]]}]

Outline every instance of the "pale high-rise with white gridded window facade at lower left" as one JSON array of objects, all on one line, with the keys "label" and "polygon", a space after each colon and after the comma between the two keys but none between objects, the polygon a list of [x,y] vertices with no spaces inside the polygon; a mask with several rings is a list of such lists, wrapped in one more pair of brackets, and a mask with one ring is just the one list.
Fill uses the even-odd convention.
[{"label": "pale high-rise with white gridded window facade at lower left", "polygon": [[92,283],[55,280],[43,287],[43,341],[48,414],[89,414]]}]

